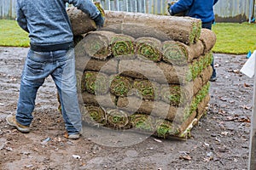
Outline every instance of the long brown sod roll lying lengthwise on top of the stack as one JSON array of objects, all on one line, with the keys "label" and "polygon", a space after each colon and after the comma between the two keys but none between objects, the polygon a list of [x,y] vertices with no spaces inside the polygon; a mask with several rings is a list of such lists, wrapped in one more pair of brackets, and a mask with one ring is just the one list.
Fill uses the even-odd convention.
[{"label": "long brown sod roll lying lengthwise on top of the stack", "polygon": [[135,38],[155,37],[160,41],[175,40],[192,44],[201,33],[201,20],[156,14],[105,11],[106,31],[123,33]]}]

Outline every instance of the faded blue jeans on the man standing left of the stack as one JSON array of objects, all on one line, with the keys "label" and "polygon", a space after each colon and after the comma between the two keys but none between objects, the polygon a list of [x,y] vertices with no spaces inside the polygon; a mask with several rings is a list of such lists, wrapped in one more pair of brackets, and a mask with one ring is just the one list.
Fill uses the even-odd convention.
[{"label": "faded blue jeans on the man standing left of the stack", "polygon": [[52,52],[29,50],[21,76],[16,120],[24,126],[31,124],[38,88],[43,85],[44,79],[49,75],[53,78],[60,94],[61,111],[67,133],[78,133],[82,123],[73,48]]}]

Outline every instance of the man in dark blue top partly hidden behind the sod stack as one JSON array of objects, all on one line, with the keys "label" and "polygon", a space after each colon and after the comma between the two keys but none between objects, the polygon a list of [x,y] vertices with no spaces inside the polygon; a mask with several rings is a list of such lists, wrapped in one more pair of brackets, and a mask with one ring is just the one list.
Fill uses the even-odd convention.
[{"label": "man in dark blue top partly hidden behind the sod stack", "polygon": [[[179,0],[169,8],[171,15],[185,12],[185,16],[201,19],[202,28],[212,30],[212,23],[214,22],[213,6],[218,0]],[[216,71],[212,60],[212,77],[210,81],[216,81]]]}]

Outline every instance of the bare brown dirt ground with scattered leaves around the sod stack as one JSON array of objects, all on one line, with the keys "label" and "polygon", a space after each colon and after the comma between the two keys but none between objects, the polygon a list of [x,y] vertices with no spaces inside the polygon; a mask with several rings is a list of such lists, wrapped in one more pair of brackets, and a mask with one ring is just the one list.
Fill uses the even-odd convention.
[{"label": "bare brown dirt ground with scattered leaves around the sod stack", "polygon": [[55,84],[39,88],[31,133],[9,127],[28,48],[0,48],[0,169],[247,169],[253,79],[239,70],[246,55],[214,54],[207,115],[187,140],[155,139],[84,127],[79,140],[63,136]]}]

